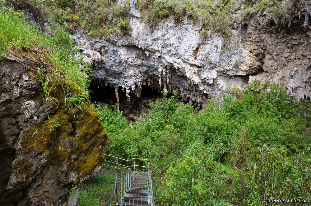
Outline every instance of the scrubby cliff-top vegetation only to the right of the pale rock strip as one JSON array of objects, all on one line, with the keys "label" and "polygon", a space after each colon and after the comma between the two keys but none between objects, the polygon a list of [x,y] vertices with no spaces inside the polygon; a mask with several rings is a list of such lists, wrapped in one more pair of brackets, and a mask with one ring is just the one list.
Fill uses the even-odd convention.
[{"label": "scrubby cliff-top vegetation only to the right of the pale rock strip", "polygon": [[150,26],[151,31],[165,18],[172,17],[179,20],[186,15],[188,18],[192,18],[194,23],[204,26],[201,33],[203,38],[207,38],[208,31],[212,30],[225,38],[225,44],[229,44],[230,30],[239,27],[242,20],[246,19],[248,15],[265,9],[272,19],[273,17],[288,18],[304,2],[306,1],[141,0],[136,7],[142,11],[142,18]]}]

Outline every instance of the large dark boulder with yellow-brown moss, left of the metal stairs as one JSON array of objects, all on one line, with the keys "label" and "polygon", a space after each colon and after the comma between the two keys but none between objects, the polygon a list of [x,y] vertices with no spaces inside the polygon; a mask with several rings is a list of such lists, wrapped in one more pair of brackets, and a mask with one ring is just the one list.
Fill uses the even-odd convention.
[{"label": "large dark boulder with yellow-brown moss, left of the metal stairs", "polygon": [[0,205],[78,205],[72,185],[103,162],[108,139],[97,113],[74,115],[58,89],[58,107],[45,102],[39,85],[23,66],[1,63]]}]

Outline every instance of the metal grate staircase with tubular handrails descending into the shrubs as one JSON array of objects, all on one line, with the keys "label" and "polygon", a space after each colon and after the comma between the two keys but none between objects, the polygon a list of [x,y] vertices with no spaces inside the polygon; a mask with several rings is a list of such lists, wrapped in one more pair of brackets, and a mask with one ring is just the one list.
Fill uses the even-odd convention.
[{"label": "metal grate staircase with tubular handrails descending into the shrubs", "polygon": [[[103,168],[105,174],[115,174],[115,186],[114,186],[114,195],[104,204],[110,205],[115,195],[117,196],[117,205],[122,206],[155,206],[152,190],[152,179],[149,171],[149,161],[147,159],[136,159],[148,161],[148,166],[135,165],[135,158],[131,160],[125,160],[118,157],[110,156],[116,158],[117,161],[109,162],[112,165],[103,164],[103,166],[110,167],[110,169]],[[133,160],[134,164],[131,166],[125,166],[118,163],[118,159],[123,161],[131,162]],[[132,172],[131,167],[134,167]],[[136,171],[136,167],[147,168],[147,171]],[[129,170],[128,172],[118,172],[117,170]],[[120,184],[121,190],[118,191],[118,184]],[[120,199],[119,199],[120,195]]]}]

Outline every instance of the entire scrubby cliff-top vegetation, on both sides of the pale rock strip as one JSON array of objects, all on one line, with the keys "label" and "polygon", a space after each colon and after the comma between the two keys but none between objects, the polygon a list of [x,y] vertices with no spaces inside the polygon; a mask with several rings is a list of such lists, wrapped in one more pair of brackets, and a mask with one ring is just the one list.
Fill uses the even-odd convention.
[{"label": "entire scrubby cliff-top vegetation, on both sides of the pale rock strip", "polygon": [[[185,16],[194,24],[204,27],[202,37],[208,37],[209,31],[217,32],[223,37],[230,37],[230,30],[238,29],[248,16],[266,12],[272,20],[288,19],[295,10],[301,12],[306,0],[138,0],[136,9],[142,13],[141,20],[149,25],[151,32],[165,18],[182,21]],[[109,38],[115,34],[130,34],[131,15],[128,0],[28,0],[16,1],[16,5],[32,4],[49,22],[55,20],[62,25],[75,29],[81,26],[90,35]],[[279,21],[280,22],[280,21]]]}]

